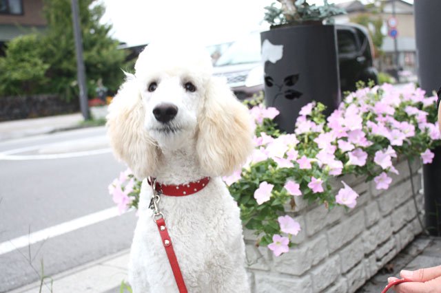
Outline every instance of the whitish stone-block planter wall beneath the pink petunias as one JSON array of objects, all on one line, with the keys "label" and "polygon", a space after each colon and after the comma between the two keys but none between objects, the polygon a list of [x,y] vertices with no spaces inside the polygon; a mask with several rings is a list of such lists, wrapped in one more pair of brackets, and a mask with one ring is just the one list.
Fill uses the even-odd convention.
[{"label": "whitish stone-block planter wall beneath the pink petunias", "polygon": [[[360,195],[353,210],[339,206],[328,211],[296,197],[296,211],[288,215],[299,221],[302,231],[293,238],[298,246],[280,257],[256,247],[256,236],[245,230],[252,292],[356,292],[422,231],[407,161],[397,163],[396,169],[400,175],[393,176],[387,191],[377,191],[375,182],[366,183],[362,177],[342,177]],[[420,162],[413,162],[422,219],[420,169]],[[334,186],[338,191],[340,180]]]}]

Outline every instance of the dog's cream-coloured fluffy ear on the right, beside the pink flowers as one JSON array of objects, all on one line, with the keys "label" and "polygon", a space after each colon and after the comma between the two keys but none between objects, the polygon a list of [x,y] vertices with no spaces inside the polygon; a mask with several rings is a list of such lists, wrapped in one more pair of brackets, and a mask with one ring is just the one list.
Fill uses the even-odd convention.
[{"label": "dog's cream-coloured fluffy ear on the right, beside the pink flowers", "polygon": [[252,152],[252,120],[225,80],[212,77],[198,117],[196,150],[209,175],[229,175]]}]

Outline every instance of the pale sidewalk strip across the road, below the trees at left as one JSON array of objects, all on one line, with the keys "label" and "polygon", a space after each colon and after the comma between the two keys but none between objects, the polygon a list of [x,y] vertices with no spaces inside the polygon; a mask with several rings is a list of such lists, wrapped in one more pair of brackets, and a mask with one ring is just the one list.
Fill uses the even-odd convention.
[{"label": "pale sidewalk strip across the road, below the trees at left", "polygon": [[0,122],[0,142],[79,127],[81,113]]}]

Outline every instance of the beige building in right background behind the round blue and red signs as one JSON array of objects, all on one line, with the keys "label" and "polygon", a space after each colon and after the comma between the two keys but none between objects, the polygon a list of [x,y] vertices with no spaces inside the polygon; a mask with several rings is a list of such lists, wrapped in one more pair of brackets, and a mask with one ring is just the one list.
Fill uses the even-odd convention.
[{"label": "beige building in right background behind the round blue and red signs", "polygon": [[[378,1],[378,4],[380,13],[376,15],[382,19],[381,32],[384,35],[381,47],[383,54],[376,61],[379,69],[389,73],[396,72],[396,69],[415,73],[416,41],[413,5],[403,0],[383,0]],[[371,13],[358,0],[340,3],[338,6],[345,8],[347,14],[336,17],[336,23],[347,23],[360,14]],[[389,36],[392,28],[388,24],[389,20],[393,17],[393,10],[395,10],[396,31],[398,32],[396,47],[394,39]],[[398,66],[395,65],[396,53],[398,54]]]}]

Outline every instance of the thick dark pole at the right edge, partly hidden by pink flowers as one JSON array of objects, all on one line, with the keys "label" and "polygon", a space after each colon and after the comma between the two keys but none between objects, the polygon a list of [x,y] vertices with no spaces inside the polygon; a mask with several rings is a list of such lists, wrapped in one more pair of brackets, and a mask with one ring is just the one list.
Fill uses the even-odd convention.
[{"label": "thick dark pole at the right edge, partly hidden by pink flowers", "polygon": [[[420,87],[432,96],[441,86],[440,0],[413,2]],[[431,235],[441,236],[441,147],[432,150],[435,158],[424,164],[424,209],[426,227]]]}]

